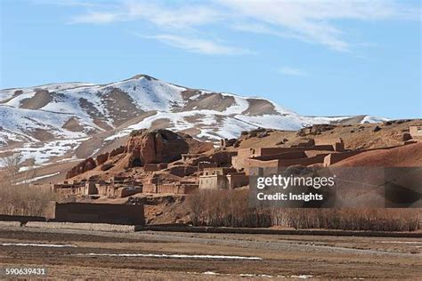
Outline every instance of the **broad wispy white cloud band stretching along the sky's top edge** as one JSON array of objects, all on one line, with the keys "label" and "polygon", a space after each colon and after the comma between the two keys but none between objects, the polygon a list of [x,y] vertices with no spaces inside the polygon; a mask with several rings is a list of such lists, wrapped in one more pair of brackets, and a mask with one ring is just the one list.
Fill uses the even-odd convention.
[{"label": "broad wispy white cloud band stretching along the sky's top edge", "polygon": [[[73,2],[75,0],[69,3]],[[97,10],[100,8],[97,7]],[[231,31],[241,30],[288,37],[348,52],[355,45],[350,42],[345,30],[339,25],[340,20],[420,20],[420,7],[405,5],[398,0],[215,0],[212,2],[124,0],[118,1],[117,4],[103,4],[101,11],[85,12],[76,16],[72,22],[134,21],[138,27],[142,26],[142,23],[148,23],[157,29],[158,36],[166,34],[166,39],[158,38],[166,44],[176,47],[201,46],[184,48],[193,52],[198,52],[199,49],[224,49],[224,46],[219,46],[210,39],[207,41],[200,39],[205,35],[202,27],[207,27],[207,32],[212,28],[215,33],[218,32],[217,28],[219,30],[229,28]],[[172,37],[168,37],[169,34]],[[183,40],[180,40],[181,38]],[[192,44],[186,44],[186,41]],[[203,45],[206,47],[202,47]],[[231,51],[213,53],[229,52]]]}]

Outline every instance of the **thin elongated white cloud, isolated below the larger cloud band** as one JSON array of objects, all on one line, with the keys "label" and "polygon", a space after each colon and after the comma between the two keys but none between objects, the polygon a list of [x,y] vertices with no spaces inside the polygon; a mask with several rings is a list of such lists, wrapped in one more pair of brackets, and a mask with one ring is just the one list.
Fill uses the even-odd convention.
[{"label": "thin elongated white cloud, isolated below the larger cloud band", "polygon": [[198,52],[204,54],[224,54],[239,55],[253,53],[248,49],[237,48],[225,44],[218,44],[214,41],[204,40],[194,37],[175,36],[169,34],[160,34],[156,36],[144,36],[150,39],[157,39],[160,42],[184,49],[189,52]]}]

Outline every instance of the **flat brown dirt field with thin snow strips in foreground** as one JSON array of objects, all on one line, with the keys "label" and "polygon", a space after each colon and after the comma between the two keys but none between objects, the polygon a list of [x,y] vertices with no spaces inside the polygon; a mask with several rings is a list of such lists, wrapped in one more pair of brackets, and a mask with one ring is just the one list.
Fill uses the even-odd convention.
[{"label": "flat brown dirt field with thin snow strips in foreground", "polygon": [[71,225],[47,229],[2,222],[0,277],[5,277],[6,268],[45,268],[45,277],[50,278],[147,280],[382,280],[422,276],[422,239],[418,238],[101,229]]}]

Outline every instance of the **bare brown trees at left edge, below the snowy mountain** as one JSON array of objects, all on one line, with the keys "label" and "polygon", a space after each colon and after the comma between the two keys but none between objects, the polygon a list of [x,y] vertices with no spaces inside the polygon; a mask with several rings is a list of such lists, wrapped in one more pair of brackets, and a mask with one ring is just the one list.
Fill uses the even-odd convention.
[{"label": "bare brown trees at left edge, below the snowy mountain", "polygon": [[41,215],[55,196],[51,189],[32,186],[29,179],[35,170],[20,173],[22,155],[15,153],[0,157],[0,213],[10,215]]}]

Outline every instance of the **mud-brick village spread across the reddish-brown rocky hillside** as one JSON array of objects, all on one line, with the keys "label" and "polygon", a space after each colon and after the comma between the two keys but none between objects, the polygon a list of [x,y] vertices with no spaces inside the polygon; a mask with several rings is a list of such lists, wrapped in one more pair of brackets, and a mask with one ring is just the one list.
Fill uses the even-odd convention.
[{"label": "mud-brick village spread across the reddish-brown rocky hillside", "polygon": [[[166,129],[134,131],[126,145],[85,159],[69,170],[66,181],[53,183],[51,188],[62,202],[140,205],[154,197],[174,197],[179,200],[174,199],[175,202],[180,202],[200,190],[248,189],[249,172],[254,168],[328,167],[353,165],[353,161],[356,165],[421,165],[421,125],[418,120],[408,120],[359,126],[321,124],[298,132],[259,128],[218,144]],[[394,145],[385,146],[381,142],[369,148],[352,149],[347,140],[327,137],[344,129],[366,130],[370,135],[384,131],[390,140],[381,138],[382,141]],[[394,136],[392,132],[400,135]],[[295,136],[296,140],[281,139],[283,133]],[[248,142],[265,143],[271,138],[277,141],[276,145],[243,148]],[[380,141],[378,137],[373,139]],[[402,157],[403,154],[408,157]],[[377,155],[385,156],[375,162],[370,160],[377,159]],[[177,221],[169,217],[167,222]]]}]

